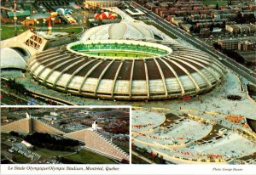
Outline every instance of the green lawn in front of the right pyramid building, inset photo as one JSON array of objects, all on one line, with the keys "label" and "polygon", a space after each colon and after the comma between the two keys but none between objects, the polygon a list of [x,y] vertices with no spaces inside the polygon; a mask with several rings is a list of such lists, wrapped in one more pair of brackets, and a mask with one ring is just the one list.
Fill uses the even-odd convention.
[{"label": "green lawn in front of the right pyramid building, inset photo", "polygon": [[68,155],[64,158],[71,161],[77,161],[87,164],[116,164],[115,161],[108,159],[105,156],[97,155],[96,153],[90,152],[89,150],[80,150],[79,154]]}]

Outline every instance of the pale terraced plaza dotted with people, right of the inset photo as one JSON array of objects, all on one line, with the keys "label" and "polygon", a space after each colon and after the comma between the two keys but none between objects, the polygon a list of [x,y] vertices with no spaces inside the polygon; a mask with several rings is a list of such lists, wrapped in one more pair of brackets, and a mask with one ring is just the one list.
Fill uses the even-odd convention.
[{"label": "pale terraced plaza dotted with people, right of the inset photo", "polygon": [[[160,110],[159,123],[156,117],[148,117],[143,109],[133,110],[136,113],[132,122],[132,142],[139,148],[145,148],[149,153],[162,155],[172,163],[245,163],[247,155],[256,151],[255,138],[247,138],[241,130],[250,130],[241,125],[231,124],[230,121],[205,120],[188,116],[168,117],[168,111]],[[157,113],[157,110],[151,114]],[[216,115],[214,115],[216,116]],[[147,119],[147,120],[145,120]],[[143,122],[144,121],[144,122]],[[146,123],[147,121],[147,123]],[[154,122],[156,121],[156,122]],[[148,127],[148,123],[159,123],[158,126]],[[229,123],[229,124],[228,124]],[[232,128],[236,128],[235,130]],[[255,137],[255,133],[250,131]],[[251,163],[255,158],[250,160]]]}]

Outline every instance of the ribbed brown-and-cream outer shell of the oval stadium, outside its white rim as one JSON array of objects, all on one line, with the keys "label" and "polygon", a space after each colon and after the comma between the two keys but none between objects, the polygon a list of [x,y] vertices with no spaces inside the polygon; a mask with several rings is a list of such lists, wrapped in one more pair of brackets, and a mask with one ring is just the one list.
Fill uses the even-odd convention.
[{"label": "ribbed brown-and-cream outer shell of the oval stadium, outside its white rim", "polygon": [[29,69],[46,86],[94,98],[172,99],[206,93],[221,81],[224,71],[208,54],[176,43],[172,53],[130,59],[78,54],[67,48],[50,48],[35,55]]}]

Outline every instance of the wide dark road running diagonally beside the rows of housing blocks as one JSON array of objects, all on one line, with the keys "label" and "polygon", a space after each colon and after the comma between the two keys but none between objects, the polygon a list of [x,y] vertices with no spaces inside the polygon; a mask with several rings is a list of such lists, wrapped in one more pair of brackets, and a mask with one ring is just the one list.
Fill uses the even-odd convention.
[{"label": "wide dark road running diagonally beside the rows of housing blocks", "polygon": [[[139,8],[140,10],[143,10],[144,12],[147,12],[146,15],[150,20],[153,20],[156,24],[160,25],[161,27],[165,28],[168,31],[171,31],[175,36],[183,39],[185,42],[189,42],[189,44],[193,45],[195,48],[198,48],[207,54],[212,55],[214,58],[219,59],[223,65],[227,66],[233,71],[236,71],[237,74],[243,76],[246,78],[249,82],[253,82],[256,84],[256,73],[253,71],[247,69],[243,65],[240,65],[239,63],[236,63],[233,59],[230,59],[230,57],[222,54],[221,52],[218,52],[214,48],[211,48],[208,46],[205,42],[201,42],[199,39],[192,37],[187,32],[183,31],[176,25],[172,25],[172,23],[164,20],[157,14],[154,14],[152,11],[148,10],[147,8],[144,8],[138,3],[135,3],[131,1],[133,4],[136,4],[136,8]],[[125,2],[127,4],[127,2]]]}]

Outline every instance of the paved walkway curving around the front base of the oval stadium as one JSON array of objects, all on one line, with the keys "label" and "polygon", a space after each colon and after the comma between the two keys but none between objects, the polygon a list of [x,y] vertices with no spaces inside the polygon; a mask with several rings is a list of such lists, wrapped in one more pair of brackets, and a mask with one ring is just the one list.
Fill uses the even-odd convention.
[{"label": "paved walkway curving around the front base of the oval stadium", "polygon": [[[255,104],[256,102],[247,95],[247,90],[241,91],[241,82],[233,72],[228,71],[224,77],[224,82],[218,87],[212,89],[211,92],[201,95],[199,98],[192,98],[188,101],[180,99],[162,100],[162,101],[115,101],[115,100],[100,100],[83,98],[79,96],[70,96],[68,93],[56,92],[55,90],[46,88],[38,82],[35,82],[29,74],[24,76],[20,72],[2,72],[3,77],[16,77],[18,82],[21,82],[27,89],[37,91],[38,93],[48,94],[50,96],[67,100],[73,104],[79,105],[132,105],[143,108],[166,108],[172,111],[183,111],[195,114],[200,114],[203,117],[209,119],[222,119],[228,114],[241,115],[247,118],[256,119]],[[241,100],[230,100],[227,96],[230,94],[236,94],[241,96]],[[212,115],[218,114],[217,116]]]}]

